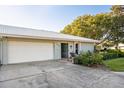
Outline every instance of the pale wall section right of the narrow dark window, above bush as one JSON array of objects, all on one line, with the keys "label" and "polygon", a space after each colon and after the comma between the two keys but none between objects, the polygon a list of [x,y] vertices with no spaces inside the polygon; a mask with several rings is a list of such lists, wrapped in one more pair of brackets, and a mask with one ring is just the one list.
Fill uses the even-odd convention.
[{"label": "pale wall section right of the narrow dark window, above bush", "polygon": [[87,51],[94,51],[94,44],[90,44],[90,43],[82,43],[81,44],[81,51],[83,52],[87,52]]}]

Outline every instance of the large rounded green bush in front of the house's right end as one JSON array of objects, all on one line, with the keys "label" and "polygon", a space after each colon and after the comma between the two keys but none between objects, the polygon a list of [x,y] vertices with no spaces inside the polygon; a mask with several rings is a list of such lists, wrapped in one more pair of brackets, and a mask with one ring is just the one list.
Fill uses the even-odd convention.
[{"label": "large rounded green bush in front of the house's right end", "polygon": [[79,56],[74,58],[74,64],[81,64],[85,66],[92,66],[94,64],[102,64],[103,56],[98,53],[81,53]]}]

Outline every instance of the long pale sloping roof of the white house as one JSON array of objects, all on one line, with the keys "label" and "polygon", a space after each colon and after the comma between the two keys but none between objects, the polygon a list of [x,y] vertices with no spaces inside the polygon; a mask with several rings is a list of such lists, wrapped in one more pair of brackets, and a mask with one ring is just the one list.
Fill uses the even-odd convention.
[{"label": "long pale sloping roof of the white house", "polygon": [[84,37],[8,25],[0,25],[0,36],[99,43],[98,40]]}]

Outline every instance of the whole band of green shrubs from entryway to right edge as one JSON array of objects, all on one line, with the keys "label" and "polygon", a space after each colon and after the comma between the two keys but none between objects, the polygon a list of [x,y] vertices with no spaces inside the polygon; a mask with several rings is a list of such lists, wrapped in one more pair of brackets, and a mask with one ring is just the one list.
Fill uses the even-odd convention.
[{"label": "whole band of green shrubs from entryway to right edge", "polygon": [[100,65],[103,64],[103,60],[114,59],[124,57],[124,52],[119,50],[106,50],[105,52],[87,52],[81,53],[74,58],[74,64],[80,64],[85,66]]}]

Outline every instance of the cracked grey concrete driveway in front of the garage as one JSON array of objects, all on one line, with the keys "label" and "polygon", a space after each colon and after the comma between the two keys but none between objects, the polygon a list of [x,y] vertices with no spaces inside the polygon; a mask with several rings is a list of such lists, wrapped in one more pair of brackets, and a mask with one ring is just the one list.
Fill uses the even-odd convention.
[{"label": "cracked grey concrete driveway in front of the garage", "polygon": [[124,75],[66,61],[34,62],[0,68],[0,87],[124,87]]}]

